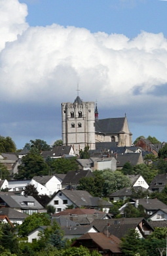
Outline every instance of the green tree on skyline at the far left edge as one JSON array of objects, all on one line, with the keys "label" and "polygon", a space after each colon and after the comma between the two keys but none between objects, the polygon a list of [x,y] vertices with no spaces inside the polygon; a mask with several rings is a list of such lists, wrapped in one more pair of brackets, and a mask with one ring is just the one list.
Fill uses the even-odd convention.
[{"label": "green tree on skyline at the far left edge", "polygon": [[16,144],[10,137],[0,136],[0,152],[16,152]]}]

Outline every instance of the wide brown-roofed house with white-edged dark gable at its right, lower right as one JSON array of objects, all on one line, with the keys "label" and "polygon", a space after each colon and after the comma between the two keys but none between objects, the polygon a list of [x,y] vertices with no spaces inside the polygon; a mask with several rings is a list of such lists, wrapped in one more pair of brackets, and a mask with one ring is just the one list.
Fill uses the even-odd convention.
[{"label": "wide brown-roofed house with white-edged dark gable at its right, lower right", "polygon": [[147,223],[147,221],[140,218],[122,218],[122,219],[107,219],[107,220],[94,220],[92,226],[98,230],[98,232],[103,232],[103,234],[110,236],[113,234],[119,239],[128,234],[130,228],[135,229],[140,238],[145,238],[147,235],[153,232],[152,226]]}]

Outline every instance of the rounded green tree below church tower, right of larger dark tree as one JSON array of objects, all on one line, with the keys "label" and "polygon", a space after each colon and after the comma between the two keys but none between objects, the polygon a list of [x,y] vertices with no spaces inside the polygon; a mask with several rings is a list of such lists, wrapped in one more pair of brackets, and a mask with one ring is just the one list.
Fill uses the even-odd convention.
[{"label": "rounded green tree below church tower, right of larger dark tree", "polygon": [[76,158],[58,158],[52,161],[50,167],[53,173],[67,173],[68,171],[77,171],[78,164]]}]

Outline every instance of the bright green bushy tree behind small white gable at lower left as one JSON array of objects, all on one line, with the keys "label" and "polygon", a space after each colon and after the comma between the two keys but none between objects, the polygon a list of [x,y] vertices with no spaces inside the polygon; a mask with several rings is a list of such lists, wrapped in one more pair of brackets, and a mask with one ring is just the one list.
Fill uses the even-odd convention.
[{"label": "bright green bushy tree behind small white gable at lower left", "polygon": [[49,224],[50,219],[48,219],[46,213],[33,213],[19,226],[18,234],[20,236],[28,236],[29,232],[35,230],[38,226],[48,226]]}]

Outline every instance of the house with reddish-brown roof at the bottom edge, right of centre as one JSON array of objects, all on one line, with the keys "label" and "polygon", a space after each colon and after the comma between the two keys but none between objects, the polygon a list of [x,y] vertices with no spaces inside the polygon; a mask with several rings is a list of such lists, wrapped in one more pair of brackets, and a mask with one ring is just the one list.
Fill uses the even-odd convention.
[{"label": "house with reddish-brown roof at the bottom edge, right of centre", "polygon": [[113,234],[106,237],[101,232],[88,232],[83,234],[80,238],[71,245],[71,247],[79,247],[83,245],[90,249],[90,251],[96,250],[104,256],[122,255],[120,249],[121,240]]}]

